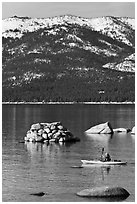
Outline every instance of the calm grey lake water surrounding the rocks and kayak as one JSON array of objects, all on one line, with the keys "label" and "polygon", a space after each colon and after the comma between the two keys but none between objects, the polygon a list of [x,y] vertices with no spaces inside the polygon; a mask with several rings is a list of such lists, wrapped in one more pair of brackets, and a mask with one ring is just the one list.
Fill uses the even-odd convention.
[{"label": "calm grey lake water surrounding the rocks and kayak", "polygon": [[[91,126],[109,121],[113,128],[135,126],[135,105],[3,105],[3,202],[104,202],[77,192],[96,186],[120,186],[129,191],[124,202],[135,201],[135,136],[131,133],[86,136]],[[31,124],[61,121],[80,142],[73,144],[20,143]],[[81,159],[100,157],[101,148],[125,166],[84,167]],[[30,195],[44,192],[42,197]]]}]

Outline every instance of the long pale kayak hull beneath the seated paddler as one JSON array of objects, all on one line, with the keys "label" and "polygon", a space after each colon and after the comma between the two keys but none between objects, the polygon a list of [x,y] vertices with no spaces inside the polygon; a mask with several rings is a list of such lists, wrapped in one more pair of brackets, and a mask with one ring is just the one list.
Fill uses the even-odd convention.
[{"label": "long pale kayak hull beneath the seated paddler", "polygon": [[125,165],[127,162],[122,162],[120,160],[114,161],[100,161],[100,160],[81,160],[83,164],[96,164],[96,165]]}]

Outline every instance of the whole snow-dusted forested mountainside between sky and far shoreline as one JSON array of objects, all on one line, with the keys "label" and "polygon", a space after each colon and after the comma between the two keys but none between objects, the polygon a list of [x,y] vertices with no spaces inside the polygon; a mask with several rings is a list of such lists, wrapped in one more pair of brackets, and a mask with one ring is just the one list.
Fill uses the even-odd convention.
[{"label": "whole snow-dusted forested mountainside between sky and far shoreline", "polygon": [[134,101],[134,19],[2,23],[3,101]]}]

